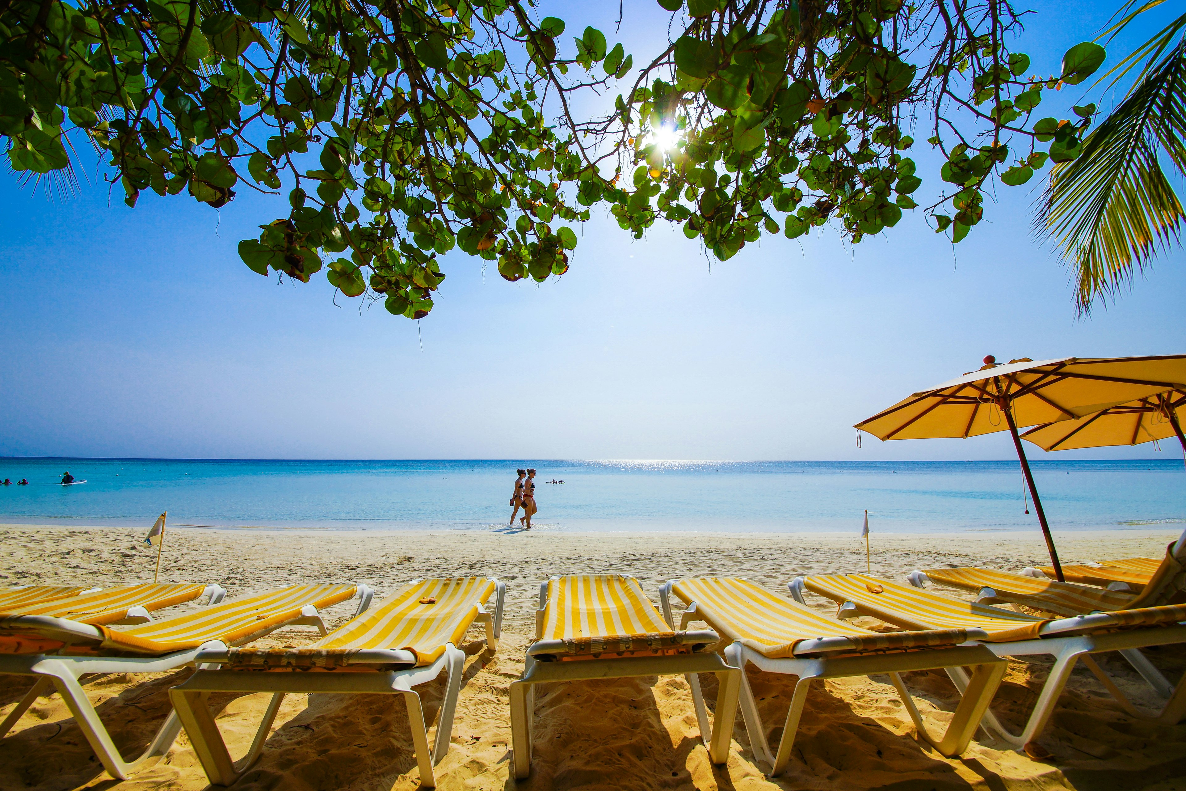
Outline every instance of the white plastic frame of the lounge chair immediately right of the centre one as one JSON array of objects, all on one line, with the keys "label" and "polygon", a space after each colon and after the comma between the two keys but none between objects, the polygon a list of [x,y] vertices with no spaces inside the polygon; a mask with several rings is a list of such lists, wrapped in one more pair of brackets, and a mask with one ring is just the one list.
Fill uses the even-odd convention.
[{"label": "white plastic frame of the lounge chair immediately right of the centre one", "polygon": [[[675,582],[676,580],[669,580],[659,592],[663,602],[663,617],[667,618],[672,627],[675,620],[671,611],[671,586]],[[689,623],[697,620],[703,621],[703,618],[696,610],[696,602],[691,601],[680,619],[680,629],[686,629]],[[804,640],[796,650],[802,650],[804,653],[812,650],[827,651],[833,644],[836,648],[831,650],[852,651],[850,648],[846,649],[846,646],[850,645],[847,638]],[[786,768],[786,764],[790,763],[791,749],[795,747],[795,736],[799,728],[799,719],[803,715],[808,691],[811,682],[816,678],[848,678],[853,676],[887,674],[898,690],[898,696],[901,697],[903,706],[905,706],[906,712],[910,714],[910,719],[913,721],[918,734],[933,745],[940,753],[950,757],[958,755],[968,748],[968,742],[975,735],[981,716],[988,710],[988,704],[996,694],[996,689],[1000,687],[1001,680],[1005,677],[1005,670],[1008,666],[1006,662],[997,659],[984,648],[968,644],[894,653],[868,653],[866,656],[829,657],[816,653],[815,656],[804,656],[802,658],[772,659],[741,643],[733,643],[725,649],[725,658],[731,665],[737,665],[742,670],[739,701],[741,704],[741,717],[745,721],[746,733],[750,735],[750,745],[753,748],[754,755],[771,766],[771,777],[782,774]],[[750,680],[745,675],[745,663],[747,662],[764,672],[777,672],[797,677],[777,752],[771,751],[770,742],[766,740],[765,726],[763,726],[761,716],[758,713],[758,704],[754,701],[753,690],[750,688]],[[965,689],[969,691],[964,694],[944,734],[940,738],[936,738],[926,729],[918,707],[914,704],[914,698],[911,696],[910,690],[906,689],[906,684],[899,674],[912,670],[958,668],[962,665],[973,665],[976,668],[968,684],[965,684]],[[893,670],[890,670],[890,666],[893,666]],[[693,683],[690,678],[689,683]],[[694,687],[694,690],[695,693],[700,691],[699,684]],[[720,716],[720,707],[718,707],[718,716]]]}]

